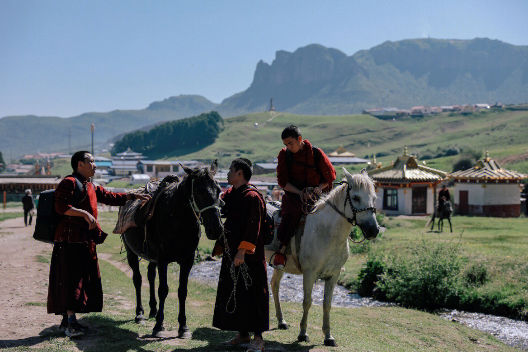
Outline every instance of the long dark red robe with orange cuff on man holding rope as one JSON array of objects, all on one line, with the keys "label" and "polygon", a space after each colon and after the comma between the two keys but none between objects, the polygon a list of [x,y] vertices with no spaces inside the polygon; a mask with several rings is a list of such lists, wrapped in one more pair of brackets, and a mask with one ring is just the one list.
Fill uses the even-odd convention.
[{"label": "long dark red robe with orange cuff on man holding rope", "polygon": [[[244,262],[248,265],[253,283],[246,290],[240,274],[235,293],[237,306],[232,314],[228,313],[227,310],[232,311],[234,307],[234,300],[229,301],[233,280],[229,273],[231,261],[224,249],[216,291],[213,326],[222,330],[243,332],[269,330],[268,276],[264,239],[260,233],[260,225],[266,214],[264,199],[249,185],[228,189],[222,194],[222,199],[225,202],[222,213],[226,215],[224,233],[231,258],[234,259],[239,248],[248,250]],[[219,243],[223,245],[223,241]],[[237,271],[239,270],[238,268]]]}]

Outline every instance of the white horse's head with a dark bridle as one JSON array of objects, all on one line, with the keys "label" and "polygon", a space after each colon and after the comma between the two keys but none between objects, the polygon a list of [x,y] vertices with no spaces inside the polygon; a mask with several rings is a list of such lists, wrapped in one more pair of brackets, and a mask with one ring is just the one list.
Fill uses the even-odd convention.
[{"label": "white horse's head with a dark bridle", "polygon": [[374,183],[366,169],[362,169],[359,174],[351,175],[343,167],[343,172],[348,183],[345,214],[355,219],[355,223],[360,227],[365,239],[375,239],[380,232],[380,226],[376,221],[376,208],[374,207],[376,199]]}]

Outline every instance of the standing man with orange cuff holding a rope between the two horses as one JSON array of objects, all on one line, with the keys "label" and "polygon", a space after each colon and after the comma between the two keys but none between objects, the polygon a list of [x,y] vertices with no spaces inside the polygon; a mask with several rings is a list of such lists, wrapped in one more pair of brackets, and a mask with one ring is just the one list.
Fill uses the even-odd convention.
[{"label": "standing man with orange cuff holding a rope between the two horses", "polygon": [[[264,239],[260,233],[266,205],[262,195],[249,183],[252,174],[251,161],[234,159],[228,173],[228,183],[233,187],[221,196],[225,202],[222,213],[226,216],[227,248],[221,239],[218,243],[224,255],[213,316],[214,327],[238,331],[237,336],[222,345],[251,342],[250,352],[264,350],[262,332],[269,330],[268,275]],[[238,281],[233,281],[230,271],[234,271]],[[253,340],[250,332],[254,332]]]}]

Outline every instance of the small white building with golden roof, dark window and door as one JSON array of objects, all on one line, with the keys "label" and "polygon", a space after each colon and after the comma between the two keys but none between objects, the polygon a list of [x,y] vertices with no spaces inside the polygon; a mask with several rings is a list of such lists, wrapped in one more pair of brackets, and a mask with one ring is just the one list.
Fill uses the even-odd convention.
[{"label": "small white building with golden roof, dark window and door", "polygon": [[[376,165],[377,166],[377,165]],[[392,165],[367,170],[376,185],[376,208],[386,215],[432,214],[437,185],[447,173],[420,165],[407,147]]]}]

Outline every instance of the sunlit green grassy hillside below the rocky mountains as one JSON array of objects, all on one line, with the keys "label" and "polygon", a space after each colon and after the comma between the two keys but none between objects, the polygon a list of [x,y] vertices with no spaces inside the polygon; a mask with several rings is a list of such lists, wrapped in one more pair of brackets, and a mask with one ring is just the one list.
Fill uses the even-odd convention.
[{"label": "sunlit green grassy hillside below the rocky mountains", "polygon": [[[182,154],[172,151],[169,159],[219,159],[221,167],[228,167],[234,157],[247,157],[262,162],[277,157],[282,141],[280,132],[288,125],[299,126],[303,137],[326,153],[340,145],[359,157],[382,153],[383,165],[401,154],[404,146],[409,153],[423,156],[429,151],[455,146],[464,151],[481,152],[489,149],[498,161],[508,156],[505,167],[528,173],[528,111],[482,111],[472,115],[441,113],[421,119],[397,121],[380,120],[370,115],[303,116],[289,113],[254,113],[224,120],[224,130],[210,146]],[[258,123],[258,127],[255,125]],[[186,152],[185,152],[186,153]],[[460,155],[438,157],[427,165],[451,171]]]}]

